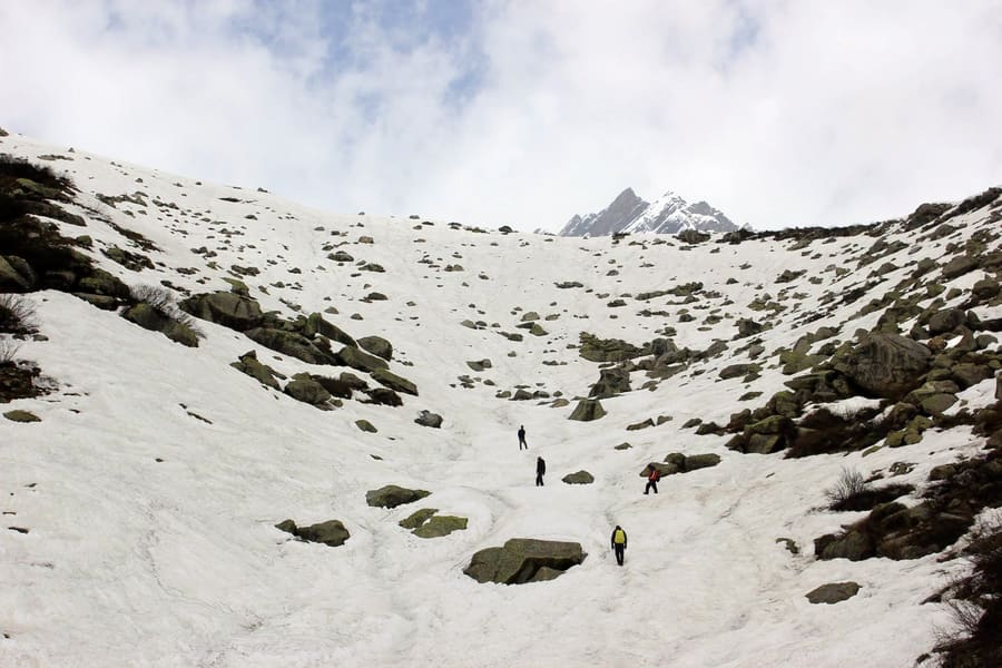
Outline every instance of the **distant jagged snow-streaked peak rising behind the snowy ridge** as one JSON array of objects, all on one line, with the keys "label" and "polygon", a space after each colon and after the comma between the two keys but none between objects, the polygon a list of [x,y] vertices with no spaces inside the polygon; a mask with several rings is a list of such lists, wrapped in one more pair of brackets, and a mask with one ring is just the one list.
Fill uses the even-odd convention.
[{"label": "distant jagged snow-streaked peak rising behind the snowy ridge", "polygon": [[648,203],[638,197],[632,188],[627,188],[597,214],[574,215],[560,230],[560,236],[676,234],[682,229],[733,232],[738,226],[705,200],[689,204],[669,190],[654,203]]}]

